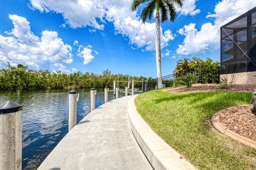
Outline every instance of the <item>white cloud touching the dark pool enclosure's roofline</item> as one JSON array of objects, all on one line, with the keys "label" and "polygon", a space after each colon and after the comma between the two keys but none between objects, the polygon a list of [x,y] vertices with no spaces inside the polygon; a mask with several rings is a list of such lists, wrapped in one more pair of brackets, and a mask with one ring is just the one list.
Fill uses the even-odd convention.
[{"label": "white cloud touching the dark pool enclosure's roofline", "polygon": [[200,30],[194,23],[185,25],[178,32],[185,36],[183,43],[177,49],[178,54],[198,54],[207,50],[219,48],[221,25],[235,19],[237,16],[256,6],[255,0],[222,0],[215,5],[214,13],[206,18],[213,19],[214,23],[204,23]]}]

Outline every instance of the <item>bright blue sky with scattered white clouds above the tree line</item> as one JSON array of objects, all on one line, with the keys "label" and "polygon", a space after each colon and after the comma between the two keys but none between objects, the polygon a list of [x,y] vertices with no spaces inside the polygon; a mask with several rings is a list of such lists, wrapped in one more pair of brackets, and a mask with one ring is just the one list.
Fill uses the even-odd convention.
[{"label": "bright blue sky with scattered white clouds above the tree line", "polygon": [[[132,0],[1,1],[0,63],[31,69],[156,77],[154,20],[142,24]],[[219,27],[254,0],[185,0],[175,22],[162,23],[162,74],[180,58],[219,61]]]}]

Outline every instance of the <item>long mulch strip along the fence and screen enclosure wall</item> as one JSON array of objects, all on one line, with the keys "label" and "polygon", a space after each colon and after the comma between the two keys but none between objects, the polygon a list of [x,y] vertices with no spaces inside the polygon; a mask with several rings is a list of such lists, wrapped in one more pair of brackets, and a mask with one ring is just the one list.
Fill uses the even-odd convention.
[{"label": "long mulch strip along the fence and screen enclosure wall", "polygon": [[197,91],[253,91],[256,89],[255,85],[229,85],[228,89],[220,89],[219,84],[193,84],[192,87],[186,86],[167,89],[169,92],[197,92]]}]

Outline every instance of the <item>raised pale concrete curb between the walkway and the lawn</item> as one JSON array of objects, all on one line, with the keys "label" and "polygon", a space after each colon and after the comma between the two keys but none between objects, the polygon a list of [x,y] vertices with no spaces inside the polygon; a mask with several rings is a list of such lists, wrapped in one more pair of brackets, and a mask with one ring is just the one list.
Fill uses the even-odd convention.
[{"label": "raised pale concrete curb between the walkway and the lawn", "polygon": [[164,142],[141,118],[134,104],[134,95],[128,101],[128,117],[132,133],[154,169],[196,169]]}]

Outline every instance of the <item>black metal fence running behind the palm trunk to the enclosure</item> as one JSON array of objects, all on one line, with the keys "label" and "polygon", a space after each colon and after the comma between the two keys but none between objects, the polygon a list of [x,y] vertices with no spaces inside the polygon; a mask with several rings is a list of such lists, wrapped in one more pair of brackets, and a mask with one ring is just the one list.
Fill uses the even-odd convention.
[{"label": "black metal fence running behind the palm trunk to the enclosure", "polygon": [[[219,83],[220,82],[220,67],[210,66],[210,67],[200,67],[193,70],[190,70],[187,73],[193,73],[195,76],[196,83],[209,84],[209,83]],[[177,80],[182,79],[183,74],[170,74],[165,75],[161,78],[151,79],[147,82],[147,91],[155,89],[169,88],[177,83]]]}]

